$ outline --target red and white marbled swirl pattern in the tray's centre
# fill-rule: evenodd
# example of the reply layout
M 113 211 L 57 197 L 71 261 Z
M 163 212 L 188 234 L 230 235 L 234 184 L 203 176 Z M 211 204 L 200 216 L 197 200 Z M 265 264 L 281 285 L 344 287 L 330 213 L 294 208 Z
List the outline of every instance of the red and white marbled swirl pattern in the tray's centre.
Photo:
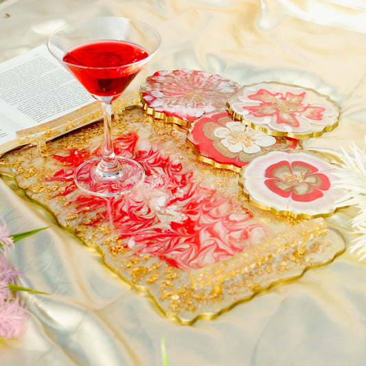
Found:
M 137 139 L 128 134 L 115 141 L 116 153 L 124 151 L 146 172 L 138 190 L 111 200 L 115 234 L 126 248 L 190 271 L 229 258 L 270 233 L 251 211 L 196 181 L 176 157 L 164 157 L 152 148 L 137 150 Z M 65 190 L 56 195 L 69 196 L 67 207 L 73 214 L 88 214 L 87 225 L 93 226 L 108 225 L 108 214 L 102 208 L 106 200 L 79 192 L 73 171 L 80 161 L 99 153 L 71 150 L 63 157 L 55 156 L 67 166 L 49 178 L 67 182 Z

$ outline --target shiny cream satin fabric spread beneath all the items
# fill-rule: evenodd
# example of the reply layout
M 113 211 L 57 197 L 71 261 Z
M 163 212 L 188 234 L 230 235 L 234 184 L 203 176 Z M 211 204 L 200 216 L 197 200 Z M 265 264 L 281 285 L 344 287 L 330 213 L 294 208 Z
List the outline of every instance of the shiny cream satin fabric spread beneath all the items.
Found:
M 305 148 L 337 155 L 366 134 L 366 6 L 363 0 L 5 0 L 0 60 L 45 43 L 62 23 L 95 15 L 130 16 L 162 36 L 157 56 L 130 85 L 162 69 L 201 69 L 240 84 L 278 81 L 329 95 L 339 128 Z M 5 16 L 9 14 L 10 16 Z M 0 86 L 1 87 L 1 86 Z M 41 209 L 0 181 L 0 216 L 12 233 L 53 225 L 12 251 L 30 321 L 1 347 L 0 364 L 171 366 L 358 366 L 366 363 L 366 262 L 347 250 L 328 266 L 275 286 L 214 321 L 181 326 L 161 317 L 102 264 L 98 253 L 61 231 Z M 354 236 L 354 209 L 330 222 Z

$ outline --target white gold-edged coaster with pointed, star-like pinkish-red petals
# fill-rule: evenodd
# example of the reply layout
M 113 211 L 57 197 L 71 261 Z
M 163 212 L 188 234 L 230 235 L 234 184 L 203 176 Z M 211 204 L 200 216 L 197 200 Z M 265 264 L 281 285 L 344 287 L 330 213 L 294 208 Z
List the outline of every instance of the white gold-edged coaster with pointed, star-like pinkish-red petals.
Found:
M 242 87 L 231 95 L 229 112 L 268 135 L 317 137 L 338 126 L 339 106 L 312 89 L 278 82 Z

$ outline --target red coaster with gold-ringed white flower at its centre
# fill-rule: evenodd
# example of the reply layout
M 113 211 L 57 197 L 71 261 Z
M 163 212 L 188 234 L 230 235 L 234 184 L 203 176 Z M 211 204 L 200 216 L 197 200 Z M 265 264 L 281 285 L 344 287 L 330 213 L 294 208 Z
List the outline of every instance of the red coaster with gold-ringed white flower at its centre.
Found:
M 254 130 L 234 121 L 227 111 L 208 113 L 193 122 L 187 143 L 201 161 L 234 172 L 269 151 L 301 148 L 297 139 Z

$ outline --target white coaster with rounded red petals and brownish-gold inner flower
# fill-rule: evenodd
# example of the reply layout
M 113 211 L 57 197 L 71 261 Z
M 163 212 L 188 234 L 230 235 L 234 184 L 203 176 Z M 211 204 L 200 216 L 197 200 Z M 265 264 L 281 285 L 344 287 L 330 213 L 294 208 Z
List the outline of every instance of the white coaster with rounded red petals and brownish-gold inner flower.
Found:
M 336 167 L 307 152 L 272 151 L 240 173 L 249 200 L 262 209 L 294 218 L 330 216 L 345 192 L 335 187 Z

